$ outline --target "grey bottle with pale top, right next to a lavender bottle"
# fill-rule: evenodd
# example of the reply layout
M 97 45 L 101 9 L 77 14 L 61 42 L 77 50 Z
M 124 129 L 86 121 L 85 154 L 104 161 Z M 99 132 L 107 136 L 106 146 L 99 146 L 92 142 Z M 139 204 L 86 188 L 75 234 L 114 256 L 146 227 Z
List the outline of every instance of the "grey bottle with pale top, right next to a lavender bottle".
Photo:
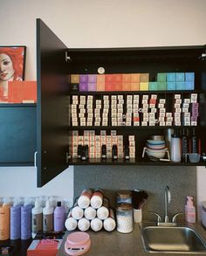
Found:
M 39 199 L 36 200 L 35 206 L 31 209 L 31 232 L 35 235 L 42 231 L 43 208 Z

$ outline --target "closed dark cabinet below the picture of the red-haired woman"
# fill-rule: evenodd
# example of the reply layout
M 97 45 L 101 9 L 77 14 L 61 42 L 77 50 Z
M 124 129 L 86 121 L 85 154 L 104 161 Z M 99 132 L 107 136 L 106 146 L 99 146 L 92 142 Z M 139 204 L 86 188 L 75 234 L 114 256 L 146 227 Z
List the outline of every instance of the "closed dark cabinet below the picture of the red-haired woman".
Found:
M 37 150 L 35 104 L 1 104 L 0 165 L 33 165 Z

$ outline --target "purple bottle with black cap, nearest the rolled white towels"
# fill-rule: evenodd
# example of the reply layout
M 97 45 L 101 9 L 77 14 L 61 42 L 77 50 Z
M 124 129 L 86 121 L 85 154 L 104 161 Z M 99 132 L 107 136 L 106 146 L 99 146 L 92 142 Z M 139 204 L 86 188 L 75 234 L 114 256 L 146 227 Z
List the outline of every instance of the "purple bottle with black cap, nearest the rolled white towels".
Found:
M 54 219 L 54 232 L 62 232 L 65 230 L 65 207 L 61 205 L 61 202 L 57 203 L 57 206 L 53 213 Z

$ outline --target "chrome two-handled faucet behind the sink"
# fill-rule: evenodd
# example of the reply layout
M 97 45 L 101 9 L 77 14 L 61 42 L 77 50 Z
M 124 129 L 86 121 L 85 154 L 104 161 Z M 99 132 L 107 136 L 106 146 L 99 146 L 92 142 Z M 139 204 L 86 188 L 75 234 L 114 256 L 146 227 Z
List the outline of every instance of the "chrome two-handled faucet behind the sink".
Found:
M 178 215 L 183 214 L 182 212 L 178 212 L 174 215 L 172 218 L 172 221 L 170 222 L 169 217 L 168 217 L 168 204 L 171 202 L 171 193 L 169 190 L 169 187 L 166 186 L 164 189 L 164 221 L 161 220 L 161 216 L 154 212 L 150 211 L 153 215 L 157 217 L 157 225 L 165 225 L 165 226 L 175 226 L 177 225 L 176 223 L 176 218 Z

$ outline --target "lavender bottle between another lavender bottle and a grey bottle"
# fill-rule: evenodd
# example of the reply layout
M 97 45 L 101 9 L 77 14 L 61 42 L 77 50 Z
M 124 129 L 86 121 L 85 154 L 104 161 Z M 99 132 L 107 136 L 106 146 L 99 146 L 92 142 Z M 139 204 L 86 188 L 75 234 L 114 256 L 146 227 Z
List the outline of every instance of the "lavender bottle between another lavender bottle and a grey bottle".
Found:
M 21 239 L 31 239 L 31 202 L 25 202 L 21 206 Z

